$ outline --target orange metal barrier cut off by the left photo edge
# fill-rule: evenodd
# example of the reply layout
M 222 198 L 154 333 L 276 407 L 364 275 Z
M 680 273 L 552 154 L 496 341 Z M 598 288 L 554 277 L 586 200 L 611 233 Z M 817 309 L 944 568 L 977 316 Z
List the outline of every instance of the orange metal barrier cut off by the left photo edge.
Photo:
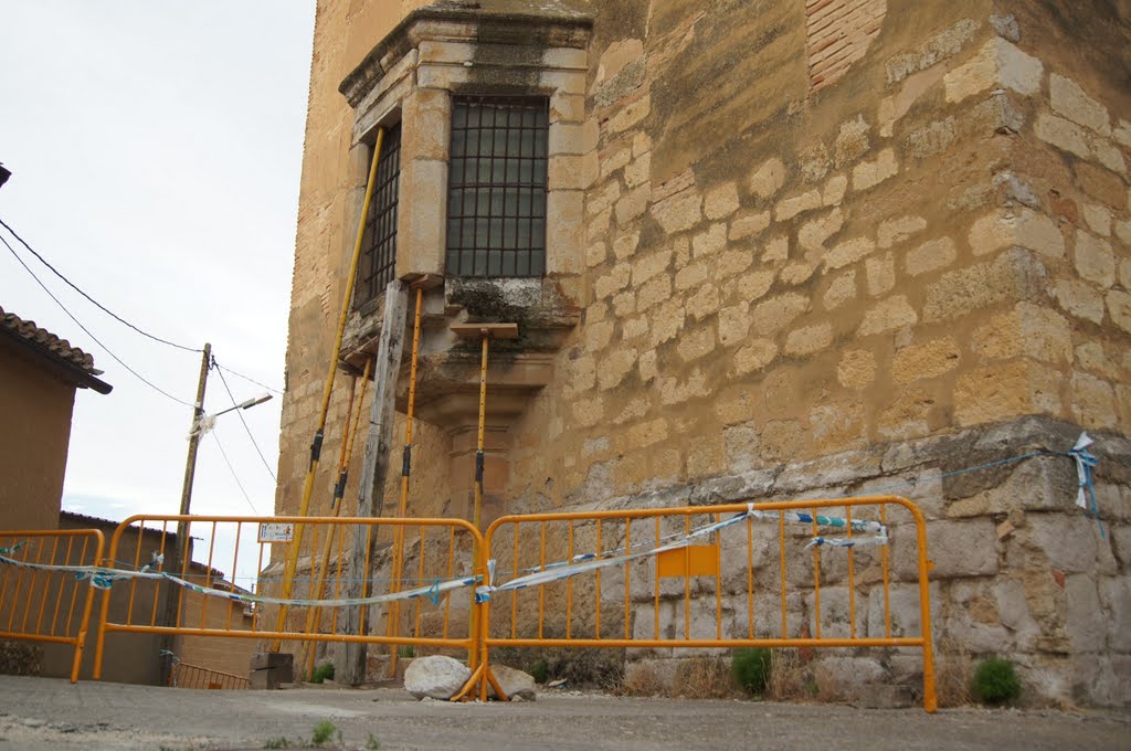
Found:
M 97 529 L 0 532 L 0 639 L 71 645 L 78 681 L 94 588 L 79 580 L 102 560 Z

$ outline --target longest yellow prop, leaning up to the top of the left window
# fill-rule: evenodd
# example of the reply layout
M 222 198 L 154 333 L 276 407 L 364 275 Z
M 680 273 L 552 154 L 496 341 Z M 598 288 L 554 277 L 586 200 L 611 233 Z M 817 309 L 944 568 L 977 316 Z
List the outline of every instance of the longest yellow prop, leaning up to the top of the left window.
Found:
M 349 301 L 353 299 L 354 280 L 357 278 L 357 261 L 361 258 L 361 245 L 365 238 L 365 222 L 369 219 L 369 204 L 373 199 L 373 183 L 377 182 L 377 165 L 381 159 L 381 146 L 385 144 L 385 128 L 377 129 L 377 144 L 373 146 L 373 163 L 369 167 L 369 180 L 365 182 L 365 200 L 361 207 L 361 221 L 357 223 L 357 239 L 354 242 L 354 253 L 349 261 L 349 273 L 346 276 L 346 290 L 342 295 L 342 313 L 338 316 L 338 330 L 334 337 L 334 353 L 330 355 L 330 369 L 326 376 L 326 387 L 322 389 L 322 407 L 318 415 L 318 430 L 310 447 L 310 467 L 307 469 L 307 482 L 302 486 L 302 503 L 299 507 L 300 517 L 310 512 L 310 497 L 314 490 L 314 475 L 318 473 L 318 460 L 322 451 L 322 435 L 326 430 L 326 415 L 330 409 L 330 394 L 334 391 L 334 377 L 338 370 L 338 357 L 342 355 L 342 337 L 345 334 L 346 318 L 349 314 Z M 286 573 L 283 575 L 283 599 L 290 599 L 294 589 L 294 573 L 299 568 L 299 554 L 302 550 L 301 524 L 295 525 L 294 539 L 286 550 Z M 277 631 L 284 630 L 286 623 L 286 605 L 279 605 Z M 271 651 L 278 651 L 282 641 L 271 642 Z

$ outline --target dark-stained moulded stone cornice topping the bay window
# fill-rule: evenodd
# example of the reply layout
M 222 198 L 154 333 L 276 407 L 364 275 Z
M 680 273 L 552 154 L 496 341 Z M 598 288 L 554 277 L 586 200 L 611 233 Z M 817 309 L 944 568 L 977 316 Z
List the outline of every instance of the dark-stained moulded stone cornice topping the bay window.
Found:
M 398 60 L 424 41 L 584 49 L 592 29 L 592 16 L 566 9 L 521 11 L 438 3 L 408 14 L 349 71 L 338 90 L 356 107 Z

